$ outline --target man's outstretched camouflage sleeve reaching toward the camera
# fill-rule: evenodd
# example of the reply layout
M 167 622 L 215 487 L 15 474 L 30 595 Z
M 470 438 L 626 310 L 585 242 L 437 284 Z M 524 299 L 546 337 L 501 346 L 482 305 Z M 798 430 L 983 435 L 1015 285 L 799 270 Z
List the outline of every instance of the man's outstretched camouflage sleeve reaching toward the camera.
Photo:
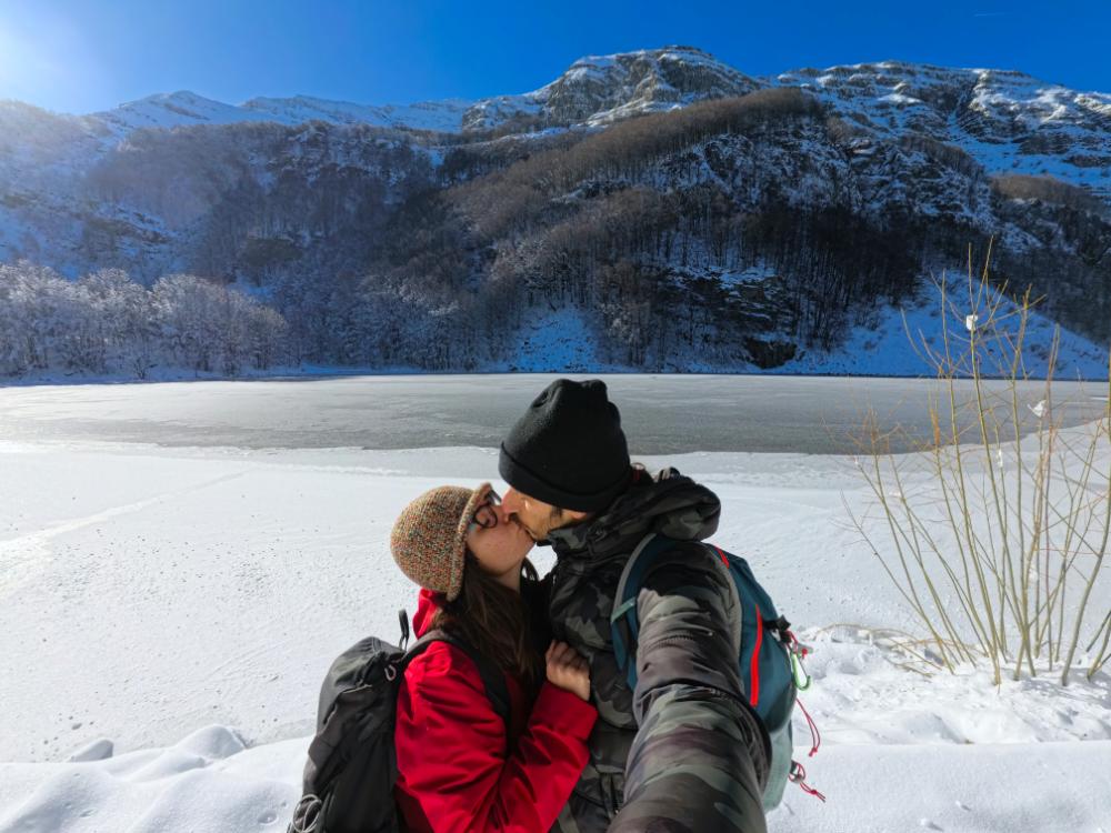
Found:
M 639 730 L 610 833 L 764 833 L 767 735 L 743 696 L 732 579 L 709 555 L 664 555 L 637 604 Z

